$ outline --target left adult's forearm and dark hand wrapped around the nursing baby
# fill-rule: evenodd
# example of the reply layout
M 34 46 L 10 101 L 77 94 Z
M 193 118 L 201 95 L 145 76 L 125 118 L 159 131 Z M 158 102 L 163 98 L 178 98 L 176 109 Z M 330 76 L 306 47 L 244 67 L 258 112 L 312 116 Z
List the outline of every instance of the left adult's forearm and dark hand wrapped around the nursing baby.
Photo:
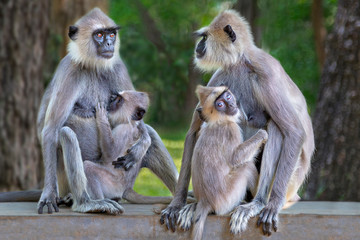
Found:
M 139 121 L 137 125 L 139 131 L 139 139 L 132 145 L 125 156 L 122 156 L 113 162 L 115 168 L 123 167 L 125 171 L 129 170 L 136 163 L 140 162 L 145 156 L 151 145 L 151 138 L 143 121 Z

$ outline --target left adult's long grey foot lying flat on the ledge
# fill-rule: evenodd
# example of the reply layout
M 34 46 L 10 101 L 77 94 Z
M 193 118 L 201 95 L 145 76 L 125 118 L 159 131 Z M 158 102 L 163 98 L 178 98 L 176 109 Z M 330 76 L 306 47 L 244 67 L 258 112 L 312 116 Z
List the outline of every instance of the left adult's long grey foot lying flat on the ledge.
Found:
M 81 204 L 76 204 L 75 202 L 72 209 L 75 212 L 107 213 L 112 215 L 124 212 L 124 208 L 119 203 L 110 199 L 87 200 Z

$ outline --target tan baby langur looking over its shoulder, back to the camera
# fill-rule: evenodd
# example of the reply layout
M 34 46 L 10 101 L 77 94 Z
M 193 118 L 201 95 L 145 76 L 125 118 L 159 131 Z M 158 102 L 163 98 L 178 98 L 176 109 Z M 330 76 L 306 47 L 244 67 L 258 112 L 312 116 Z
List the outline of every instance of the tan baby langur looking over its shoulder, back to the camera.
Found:
M 268 135 L 261 129 L 244 142 L 238 124 L 246 116 L 228 88 L 198 86 L 196 94 L 200 101 L 197 112 L 204 121 L 191 166 L 198 202 L 180 211 L 178 224 L 188 230 L 194 222 L 192 238 L 201 239 L 210 212 L 229 213 L 241 203 L 247 189 L 255 195 L 258 173 L 254 157 Z

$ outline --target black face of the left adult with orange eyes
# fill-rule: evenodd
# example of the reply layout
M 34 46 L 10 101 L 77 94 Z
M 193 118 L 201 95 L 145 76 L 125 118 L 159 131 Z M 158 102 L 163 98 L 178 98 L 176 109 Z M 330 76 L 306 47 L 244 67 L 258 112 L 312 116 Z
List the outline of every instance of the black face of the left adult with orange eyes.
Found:
M 116 42 L 116 28 L 98 29 L 93 33 L 97 54 L 103 58 L 112 58 Z

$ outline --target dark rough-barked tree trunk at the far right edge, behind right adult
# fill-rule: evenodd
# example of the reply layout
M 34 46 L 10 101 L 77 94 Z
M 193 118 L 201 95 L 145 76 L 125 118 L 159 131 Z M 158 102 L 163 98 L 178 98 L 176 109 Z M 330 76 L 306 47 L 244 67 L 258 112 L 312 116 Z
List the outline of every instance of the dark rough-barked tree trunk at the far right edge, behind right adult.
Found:
M 360 200 L 360 1 L 339 0 L 314 116 L 316 154 L 305 197 Z

